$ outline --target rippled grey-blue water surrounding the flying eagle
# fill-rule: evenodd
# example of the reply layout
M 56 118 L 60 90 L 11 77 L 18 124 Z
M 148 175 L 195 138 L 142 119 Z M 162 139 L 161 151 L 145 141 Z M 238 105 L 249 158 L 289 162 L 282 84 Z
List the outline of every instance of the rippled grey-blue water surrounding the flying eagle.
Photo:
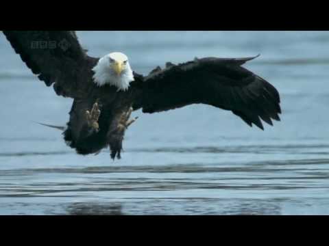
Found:
M 59 131 L 72 100 L 38 81 L 0 34 L 0 214 L 329 214 L 328 31 L 78 31 L 90 55 L 123 51 L 136 72 L 194 57 L 261 56 L 282 122 L 249 128 L 207 105 L 144 115 L 123 159 L 79 156 Z

